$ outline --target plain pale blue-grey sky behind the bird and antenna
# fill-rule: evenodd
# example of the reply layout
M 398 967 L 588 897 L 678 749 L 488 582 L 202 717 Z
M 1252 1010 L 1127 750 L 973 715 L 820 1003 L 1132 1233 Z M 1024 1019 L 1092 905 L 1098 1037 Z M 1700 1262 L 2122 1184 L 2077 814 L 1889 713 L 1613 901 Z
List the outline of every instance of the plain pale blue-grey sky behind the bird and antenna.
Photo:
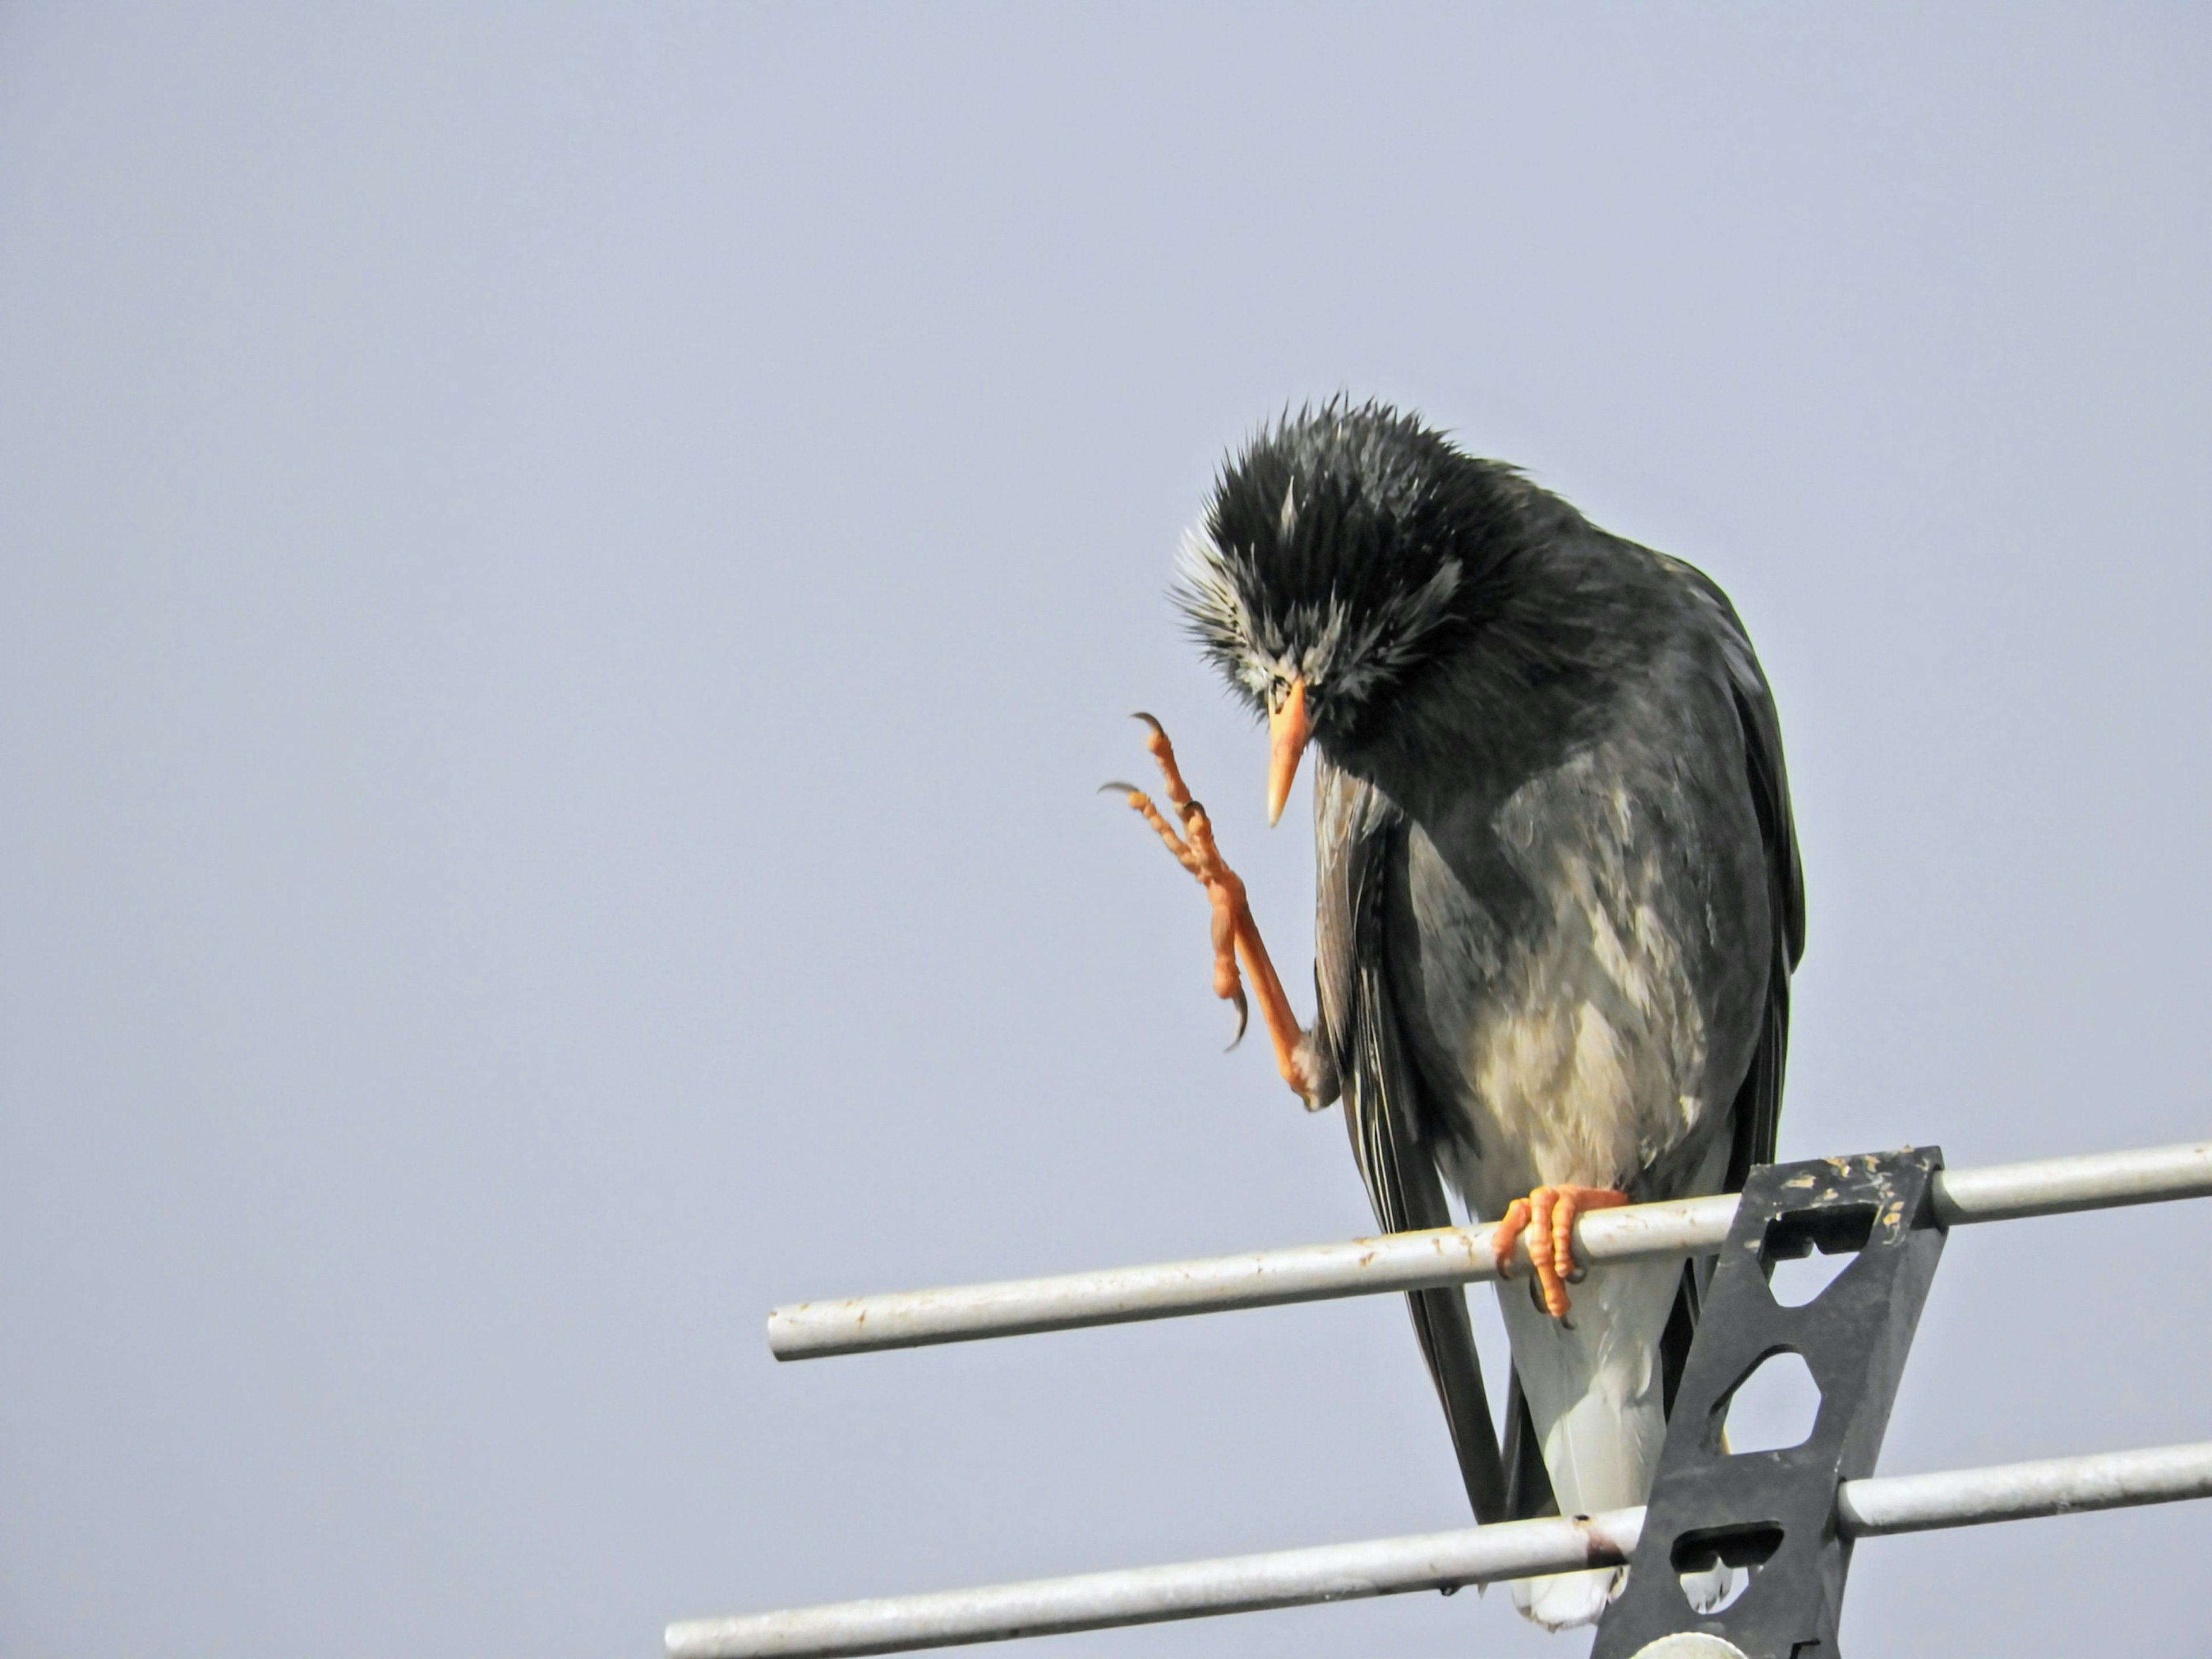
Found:
M 1734 595 L 1785 1155 L 2203 1135 L 2208 86 L 2194 4 L 0 9 L 0 1650 L 646 1659 L 1462 1524 L 1394 1298 L 761 1334 L 1367 1230 L 1093 794 L 1157 710 L 1303 991 L 1303 785 L 1161 595 L 1340 387 Z M 1882 1469 L 2212 1433 L 2208 1248 L 1962 1232 Z M 1878 1542 L 1845 1639 L 2205 1652 L 2208 1548 Z

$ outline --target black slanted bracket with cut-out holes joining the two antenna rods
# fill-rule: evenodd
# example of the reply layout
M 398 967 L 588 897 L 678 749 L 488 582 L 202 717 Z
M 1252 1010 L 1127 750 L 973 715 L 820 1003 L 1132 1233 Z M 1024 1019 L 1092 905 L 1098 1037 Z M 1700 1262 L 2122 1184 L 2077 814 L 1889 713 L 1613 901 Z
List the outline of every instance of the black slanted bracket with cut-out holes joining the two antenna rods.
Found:
M 1922 1146 L 1752 1170 L 1683 1363 L 1628 1586 L 1590 1659 L 1838 1659 L 1851 1540 L 1836 1531 L 1836 1486 L 1871 1475 L 1882 1449 L 1942 1256 L 1940 1168 L 1942 1152 Z M 1858 1256 L 1809 1303 L 1783 1307 L 1770 1272 L 1812 1250 Z M 1812 1433 L 1730 1453 L 1728 1405 L 1776 1354 L 1801 1356 L 1820 1389 Z M 1723 1562 L 1750 1571 L 1747 1588 L 1697 1613 L 1681 1575 Z

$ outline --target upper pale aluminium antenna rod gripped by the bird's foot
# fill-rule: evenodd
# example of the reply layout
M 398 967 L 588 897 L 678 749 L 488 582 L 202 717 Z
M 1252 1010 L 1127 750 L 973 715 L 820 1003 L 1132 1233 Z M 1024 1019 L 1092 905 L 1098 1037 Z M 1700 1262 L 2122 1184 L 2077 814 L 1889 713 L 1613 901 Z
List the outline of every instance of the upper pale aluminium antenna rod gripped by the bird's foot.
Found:
M 2194 1141 L 2143 1152 L 1944 1170 L 1936 1177 L 1936 1214 L 1944 1225 L 1960 1225 L 2208 1194 L 2212 1141 Z M 1593 1210 L 1575 1223 L 1575 1256 L 1588 1263 L 1690 1256 L 1717 1250 L 1734 1219 L 1734 1194 Z M 1528 1270 L 1526 1250 L 1515 1250 L 1515 1267 Z M 1376 1296 L 1389 1290 L 1473 1285 L 1495 1276 L 1486 1230 L 1391 1232 L 1150 1267 L 796 1303 L 768 1316 L 768 1347 L 779 1360 L 807 1360 L 880 1347 Z

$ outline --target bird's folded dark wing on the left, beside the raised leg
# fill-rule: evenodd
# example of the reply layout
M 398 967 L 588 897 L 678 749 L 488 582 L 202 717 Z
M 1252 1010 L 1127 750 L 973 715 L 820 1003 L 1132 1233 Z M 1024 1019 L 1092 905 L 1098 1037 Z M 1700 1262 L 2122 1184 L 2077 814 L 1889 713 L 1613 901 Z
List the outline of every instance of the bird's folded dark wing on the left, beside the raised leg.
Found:
M 1449 1228 L 1444 1183 L 1422 1128 L 1413 1073 L 1383 975 L 1383 865 L 1398 812 L 1369 785 L 1325 761 L 1314 768 L 1318 909 L 1314 982 L 1321 1046 L 1334 1060 L 1352 1155 L 1383 1232 Z M 1444 1405 L 1444 1425 L 1478 1522 L 1511 1517 L 1506 1473 L 1482 1387 L 1482 1360 L 1458 1285 L 1407 1296 L 1413 1334 Z

